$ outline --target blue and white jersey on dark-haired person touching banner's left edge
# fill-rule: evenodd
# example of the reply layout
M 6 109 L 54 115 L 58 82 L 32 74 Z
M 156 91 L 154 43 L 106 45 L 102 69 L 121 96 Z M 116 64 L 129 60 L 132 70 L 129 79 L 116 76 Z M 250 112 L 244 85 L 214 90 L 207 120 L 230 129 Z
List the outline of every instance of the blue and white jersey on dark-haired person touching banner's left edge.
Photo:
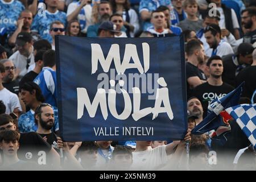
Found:
M 52 68 L 44 67 L 34 82 L 42 90 L 46 103 L 57 107 L 56 72 Z

